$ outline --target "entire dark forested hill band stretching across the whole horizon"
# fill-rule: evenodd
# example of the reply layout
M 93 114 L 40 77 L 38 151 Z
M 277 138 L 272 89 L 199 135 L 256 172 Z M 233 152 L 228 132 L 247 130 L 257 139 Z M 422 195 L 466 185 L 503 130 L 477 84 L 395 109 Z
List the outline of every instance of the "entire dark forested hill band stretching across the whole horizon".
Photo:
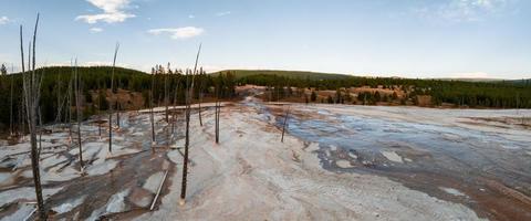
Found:
M 168 71 L 157 65 L 153 70 L 155 74 L 152 75 L 131 69 L 116 67 L 113 92 L 110 90 L 113 71 L 111 66 L 76 67 L 75 71 L 80 76 L 80 98 L 84 116 L 105 112 L 110 105 L 113 105 L 114 109 L 147 107 L 152 103 L 149 96 L 152 84 L 155 105 L 162 105 L 165 101 L 184 103 L 187 78 L 183 71 Z M 71 114 L 69 110 L 75 109 L 73 108 L 75 96 L 72 92 L 74 69 L 52 66 L 39 69 L 37 72 L 44 76 L 40 101 L 43 123 L 67 120 L 65 117 Z M 325 97 L 320 97 L 323 99 L 312 99 L 312 102 L 378 104 L 387 101 L 399 104 L 419 104 L 417 99 L 423 96 L 423 101 L 429 103 L 427 106 L 452 104 L 469 107 L 531 108 L 531 81 L 529 80 L 489 83 L 360 77 L 316 72 L 232 70 L 212 74 L 200 71 L 200 74 L 195 77 L 195 98 L 198 98 L 199 94 L 207 98 L 209 96 L 231 98 L 236 95 L 236 85 L 254 84 L 267 86 L 271 97 L 275 99 L 295 94 L 302 99 L 309 99 L 306 97 L 309 94 L 292 93 L 292 87 L 298 87 L 306 88 L 310 94 L 314 94 L 314 91 L 335 92 L 335 94 L 324 93 Z M 22 124 L 24 116 L 21 112 L 22 88 L 21 74 L 0 75 L 0 130 L 9 128 L 11 123 L 17 126 Z M 214 88 L 219 88 L 219 92 Z M 356 88 L 363 90 L 356 91 Z M 315 94 L 317 97 L 321 96 L 320 93 Z M 332 99 L 332 97 L 335 98 Z M 427 98 L 429 101 L 426 101 Z M 70 101 L 70 105 L 67 101 Z M 13 114 L 11 115 L 11 113 Z

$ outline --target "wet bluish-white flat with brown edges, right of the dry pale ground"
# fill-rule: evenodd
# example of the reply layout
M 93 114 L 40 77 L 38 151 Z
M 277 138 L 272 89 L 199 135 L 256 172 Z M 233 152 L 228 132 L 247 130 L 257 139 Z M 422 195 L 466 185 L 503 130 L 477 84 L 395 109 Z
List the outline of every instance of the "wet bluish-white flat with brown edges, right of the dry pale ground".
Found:
M 281 128 L 288 107 L 268 107 Z M 385 176 L 490 220 L 531 220 L 529 110 L 292 105 L 290 113 L 287 131 L 319 143 L 327 170 Z M 514 124 L 483 124 L 489 118 Z

